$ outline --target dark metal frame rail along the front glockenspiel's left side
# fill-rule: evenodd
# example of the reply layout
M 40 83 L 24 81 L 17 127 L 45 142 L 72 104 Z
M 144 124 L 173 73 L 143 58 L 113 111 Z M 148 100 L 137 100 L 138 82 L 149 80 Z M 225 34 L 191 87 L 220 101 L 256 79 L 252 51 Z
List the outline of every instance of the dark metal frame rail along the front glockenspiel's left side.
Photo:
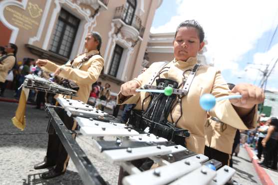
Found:
M 78 174 L 84 183 L 84 185 L 107 185 L 103 178 L 99 175 L 96 168 L 87 158 L 86 154 L 77 144 L 77 142 L 72 138 L 72 132 L 68 130 L 56 111 L 63 111 L 62 109 L 53 108 L 51 106 L 45 106 L 46 111 L 51 116 L 51 125 L 55 129 L 61 143 L 69 154 L 72 162 L 74 163 Z

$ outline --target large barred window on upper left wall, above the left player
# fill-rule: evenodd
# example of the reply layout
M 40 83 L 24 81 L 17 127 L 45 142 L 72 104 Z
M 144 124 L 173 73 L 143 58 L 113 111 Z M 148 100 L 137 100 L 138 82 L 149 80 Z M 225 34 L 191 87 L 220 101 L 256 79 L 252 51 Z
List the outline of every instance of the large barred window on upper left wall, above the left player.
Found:
M 61 9 L 50 44 L 50 51 L 69 58 L 80 20 Z

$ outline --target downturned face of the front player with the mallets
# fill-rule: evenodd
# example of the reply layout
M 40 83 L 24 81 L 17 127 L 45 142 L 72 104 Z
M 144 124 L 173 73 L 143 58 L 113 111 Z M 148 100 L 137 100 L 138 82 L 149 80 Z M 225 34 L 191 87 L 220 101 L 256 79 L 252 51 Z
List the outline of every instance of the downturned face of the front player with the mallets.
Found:
M 176 60 L 186 61 L 189 57 L 196 57 L 205 43 L 200 43 L 198 31 L 194 27 L 179 28 L 173 42 Z

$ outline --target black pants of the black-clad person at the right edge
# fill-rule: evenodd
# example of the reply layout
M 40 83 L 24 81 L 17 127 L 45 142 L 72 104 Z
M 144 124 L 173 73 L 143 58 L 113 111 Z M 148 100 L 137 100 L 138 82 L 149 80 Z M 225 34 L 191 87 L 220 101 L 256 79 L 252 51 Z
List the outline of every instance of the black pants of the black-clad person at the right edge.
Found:
M 266 145 L 266 156 L 264 159 L 265 166 L 271 166 L 272 169 L 277 169 L 278 162 L 278 142 L 275 139 L 270 138 Z

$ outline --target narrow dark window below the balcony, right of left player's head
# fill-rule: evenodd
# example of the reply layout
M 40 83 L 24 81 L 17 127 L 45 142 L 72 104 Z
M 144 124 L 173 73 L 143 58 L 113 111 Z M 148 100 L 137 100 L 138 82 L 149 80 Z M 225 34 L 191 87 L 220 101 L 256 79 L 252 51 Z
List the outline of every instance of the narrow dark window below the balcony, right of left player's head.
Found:
M 122 54 L 123 54 L 123 50 L 124 48 L 122 48 L 119 45 L 115 45 L 115 49 L 114 49 L 114 53 L 113 53 L 113 58 L 112 58 L 112 62 L 111 62 L 111 66 L 109 69 L 109 75 L 111 76 L 117 76 L 118 73 L 118 69 L 119 69 L 119 65 L 121 62 L 121 58 L 122 58 Z

